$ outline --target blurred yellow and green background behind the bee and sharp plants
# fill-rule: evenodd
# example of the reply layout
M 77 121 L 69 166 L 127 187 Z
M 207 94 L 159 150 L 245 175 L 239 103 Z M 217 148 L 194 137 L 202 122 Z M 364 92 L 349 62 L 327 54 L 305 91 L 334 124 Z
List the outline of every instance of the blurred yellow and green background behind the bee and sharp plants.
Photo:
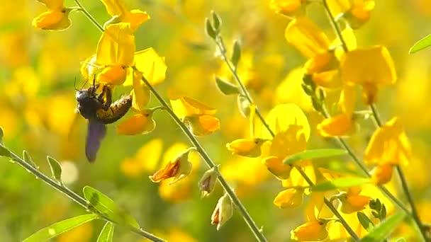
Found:
M 302 67 L 306 59 L 284 38 L 289 19 L 274 13 L 269 1 L 261 0 L 126 3 L 151 16 L 135 34 L 137 50 L 153 47 L 166 58 L 167 79 L 157 90 L 167 98 L 168 90 L 174 89 L 218 110 L 220 130 L 199 140 L 211 158 L 222 164 L 223 175 L 258 226 L 264 226 L 269 241 L 286 241 L 291 229 L 303 223 L 303 209 L 274 206 L 272 200 L 281 190 L 279 181 L 259 159 L 235 156 L 225 148 L 226 143 L 249 136 L 248 121 L 237 110 L 236 98 L 223 96 L 215 86 L 214 74 L 226 79 L 231 75 L 215 56 L 215 45 L 206 36 L 203 23 L 214 10 L 223 18 L 222 35 L 228 50 L 233 40 L 240 40 L 240 76 L 263 113 L 279 103 L 297 103 L 307 113 L 312 127 L 308 149 L 329 147 L 332 142 L 315 133 L 320 117 L 313 113 L 302 93 L 301 79 L 292 78 L 293 70 Z M 100 23 L 110 18 L 100 1 L 82 4 Z M 74 6 L 74 1 L 66 1 L 65 6 Z M 210 224 L 223 190 L 217 186 L 208 198 L 200 198 L 197 182 L 206 165 L 197 156 L 194 171 L 180 183 L 169 186 L 148 179 L 190 146 L 166 113 L 155 113 L 157 127 L 146 135 L 120 136 L 115 133 L 115 124 L 109 125 L 96 162 L 86 161 L 86 120 L 80 119 L 72 128 L 72 137 L 67 136 L 77 105 L 74 80 L 77 86 L 84 82 L 80 63 L 96 51 L 100 32 L 79 12 L 70 14 L 72 26 L 67 30 L 35 29 L 31 21 L 44 8 L 37 1 L 0 4 L 0 126 L 6 146 L 17 154 L 26 149 L 44 173 L 49 173 L 45 156 L 55 157 L 62 163 L 69 188 L 78 193 L 84 185 L 101 190 L 133 214 L 143 229 L 169 241 L 252 241 L 253 235 L 237 212 L 220 231 Z M 308 12 L 333 39 L 323 8 L 311 6 Z M 376 1 L 371 20 L 355 35 L 358 47 L 388 47 L 396 64 L 398 81 L 382 89 L 377 107 L 384 120 L 398 116 L 405 125 L 415 156 L 405 173 L 423 219 L 431 222 L 431 217 L 425 216 L 431 201 L 431 50 L 408 54 L 415 41 L 430 33 L 430 25 L 428 0 Z M 118 98 L 129 91 L 117 88 L 114 96 Z M 150 107 L 156 105 L 157 100 L 152 98 Z M 349 141 L 362 156 L 373 129 L 363 125 L 358 131 L 359 137 Z M 0 241 L 21 241 L 44 226 L 86 213 L 23 168 L 5 158 L 1 161 Z M 96 241 L 102 226 L 103 221 L 93 221 L 56 240 Z M 114 241 L 140 240 L 116 228 Z

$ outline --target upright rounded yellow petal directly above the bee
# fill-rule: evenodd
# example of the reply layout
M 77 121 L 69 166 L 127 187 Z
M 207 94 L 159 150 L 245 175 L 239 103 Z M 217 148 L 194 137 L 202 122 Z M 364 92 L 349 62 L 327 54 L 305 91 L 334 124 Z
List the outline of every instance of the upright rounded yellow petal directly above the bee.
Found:
M 97 44 L 97 64 L 131 67 L 134 56 L 135 35 L 130 23 L 108 25 Z

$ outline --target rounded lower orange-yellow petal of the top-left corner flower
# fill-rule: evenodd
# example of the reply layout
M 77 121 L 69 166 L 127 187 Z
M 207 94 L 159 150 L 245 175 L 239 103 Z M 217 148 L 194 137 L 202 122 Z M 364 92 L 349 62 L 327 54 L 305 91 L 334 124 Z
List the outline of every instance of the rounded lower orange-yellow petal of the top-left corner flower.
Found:
M 69 9 L 64 11 L 47 11 L 33 19 L 32 25 L 42 30 L 65 30 L 71 25 Z

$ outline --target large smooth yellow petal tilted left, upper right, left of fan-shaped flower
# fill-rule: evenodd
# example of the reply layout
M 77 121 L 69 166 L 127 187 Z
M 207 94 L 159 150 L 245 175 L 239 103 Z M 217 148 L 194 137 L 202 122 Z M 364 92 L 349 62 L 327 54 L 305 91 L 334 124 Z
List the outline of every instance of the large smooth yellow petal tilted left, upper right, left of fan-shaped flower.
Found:
M 330 47 L 328 37 L 310 18 L 296 18 L 286 28 L 284 33 L 287 42 L 308 59 L 316 54 L 327 52 Z

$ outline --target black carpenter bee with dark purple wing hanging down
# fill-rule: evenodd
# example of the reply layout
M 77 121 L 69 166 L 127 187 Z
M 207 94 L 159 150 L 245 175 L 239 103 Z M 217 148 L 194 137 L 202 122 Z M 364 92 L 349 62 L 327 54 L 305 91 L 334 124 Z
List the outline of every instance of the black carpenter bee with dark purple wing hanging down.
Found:
M 97 94 L 99 84 L 90 86 L 84 90 L 77 90 L 77 111 L 88 122 L 86 134 L 85 154 L 86 158 L 93 162 L 96 160 L 97 151 L 106 134 L 106 125 L 116 122 L 123 117 L 132 106 L 132 96 L 123 96 L 112 103 L 112 91 L 109 86 L 103 86 L 100 94 Z

